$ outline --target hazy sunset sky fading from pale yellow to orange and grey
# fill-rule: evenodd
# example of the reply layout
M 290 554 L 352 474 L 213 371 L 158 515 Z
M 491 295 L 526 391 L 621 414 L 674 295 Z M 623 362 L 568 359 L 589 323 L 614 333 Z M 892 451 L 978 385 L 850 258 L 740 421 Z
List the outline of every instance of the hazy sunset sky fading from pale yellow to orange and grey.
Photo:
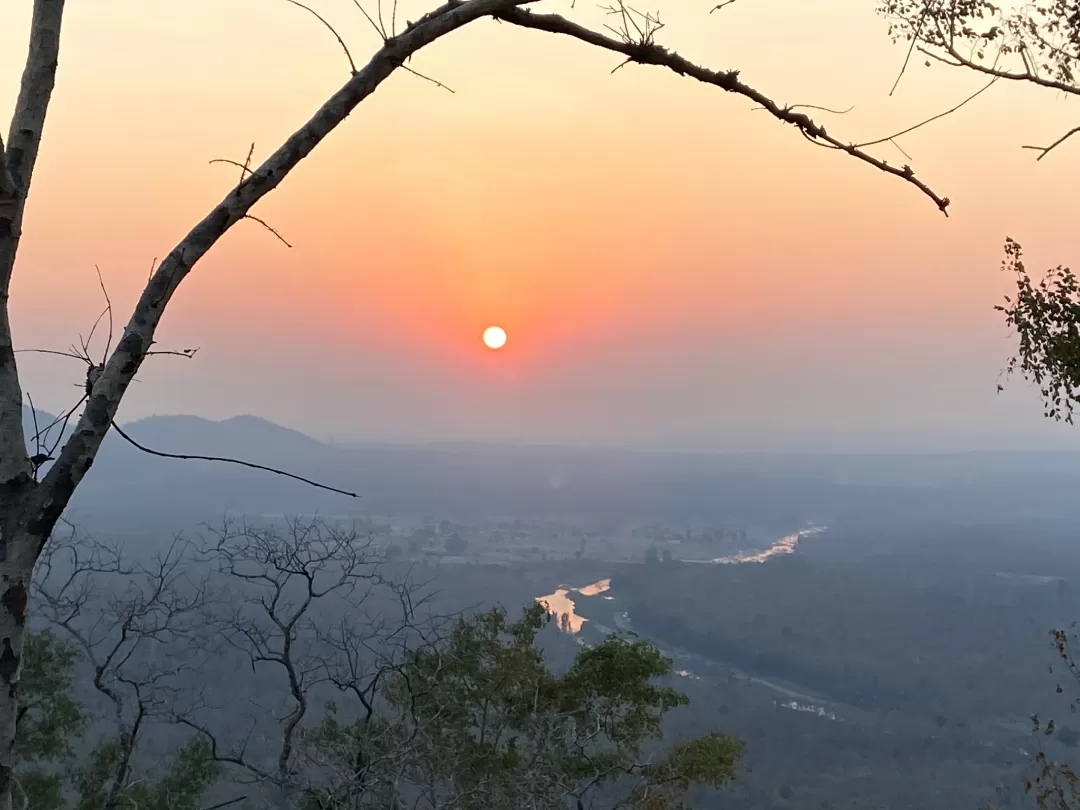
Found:
M 875 0 L 661 2 L 662 43 L 863 140 L 955 105 L 978 77 L 916 60 Z M 350 2 L 311 0 L 356 59 Z M 374 2 L 374 0 L 369 0 Z M 0 104 L 29 2 L 0 5 Z M 403 0 L 416 18 L 428 0 Z M 538 9 L 600 25 L 592 3 Z M 588 6 L 588 8 L 586 8 Z M 1080 144 L 1049 92 L 996 85 L 901 139 L 954 201 L 808 144 L 752 104 L 551 35 L 481 21 L 392 77 L 256 208 L 294 244 L 234 228 L 159 334 L 121 418 L 253 413 L 321 437 L 715 449 L 1080 446 L 1017 381 L 993 306 L 1007 234 L 1029 266 L 1078 260 Z M 69 3 L 59 80 L 12 294 L 16 346 L 64 348 L 99 309 L 126 321 L 150 262 L 347 78 L 284 0 Z M 5 112 L 4 116 L 8 113 Z M 879 153 L 907 162 L 891 147 Z M 1069 235 L 1072 239 L 1069 239 Z M 497 323 L 501 352 L 480 335 Z M 77 363 L 21 355 L 39 407 Z

